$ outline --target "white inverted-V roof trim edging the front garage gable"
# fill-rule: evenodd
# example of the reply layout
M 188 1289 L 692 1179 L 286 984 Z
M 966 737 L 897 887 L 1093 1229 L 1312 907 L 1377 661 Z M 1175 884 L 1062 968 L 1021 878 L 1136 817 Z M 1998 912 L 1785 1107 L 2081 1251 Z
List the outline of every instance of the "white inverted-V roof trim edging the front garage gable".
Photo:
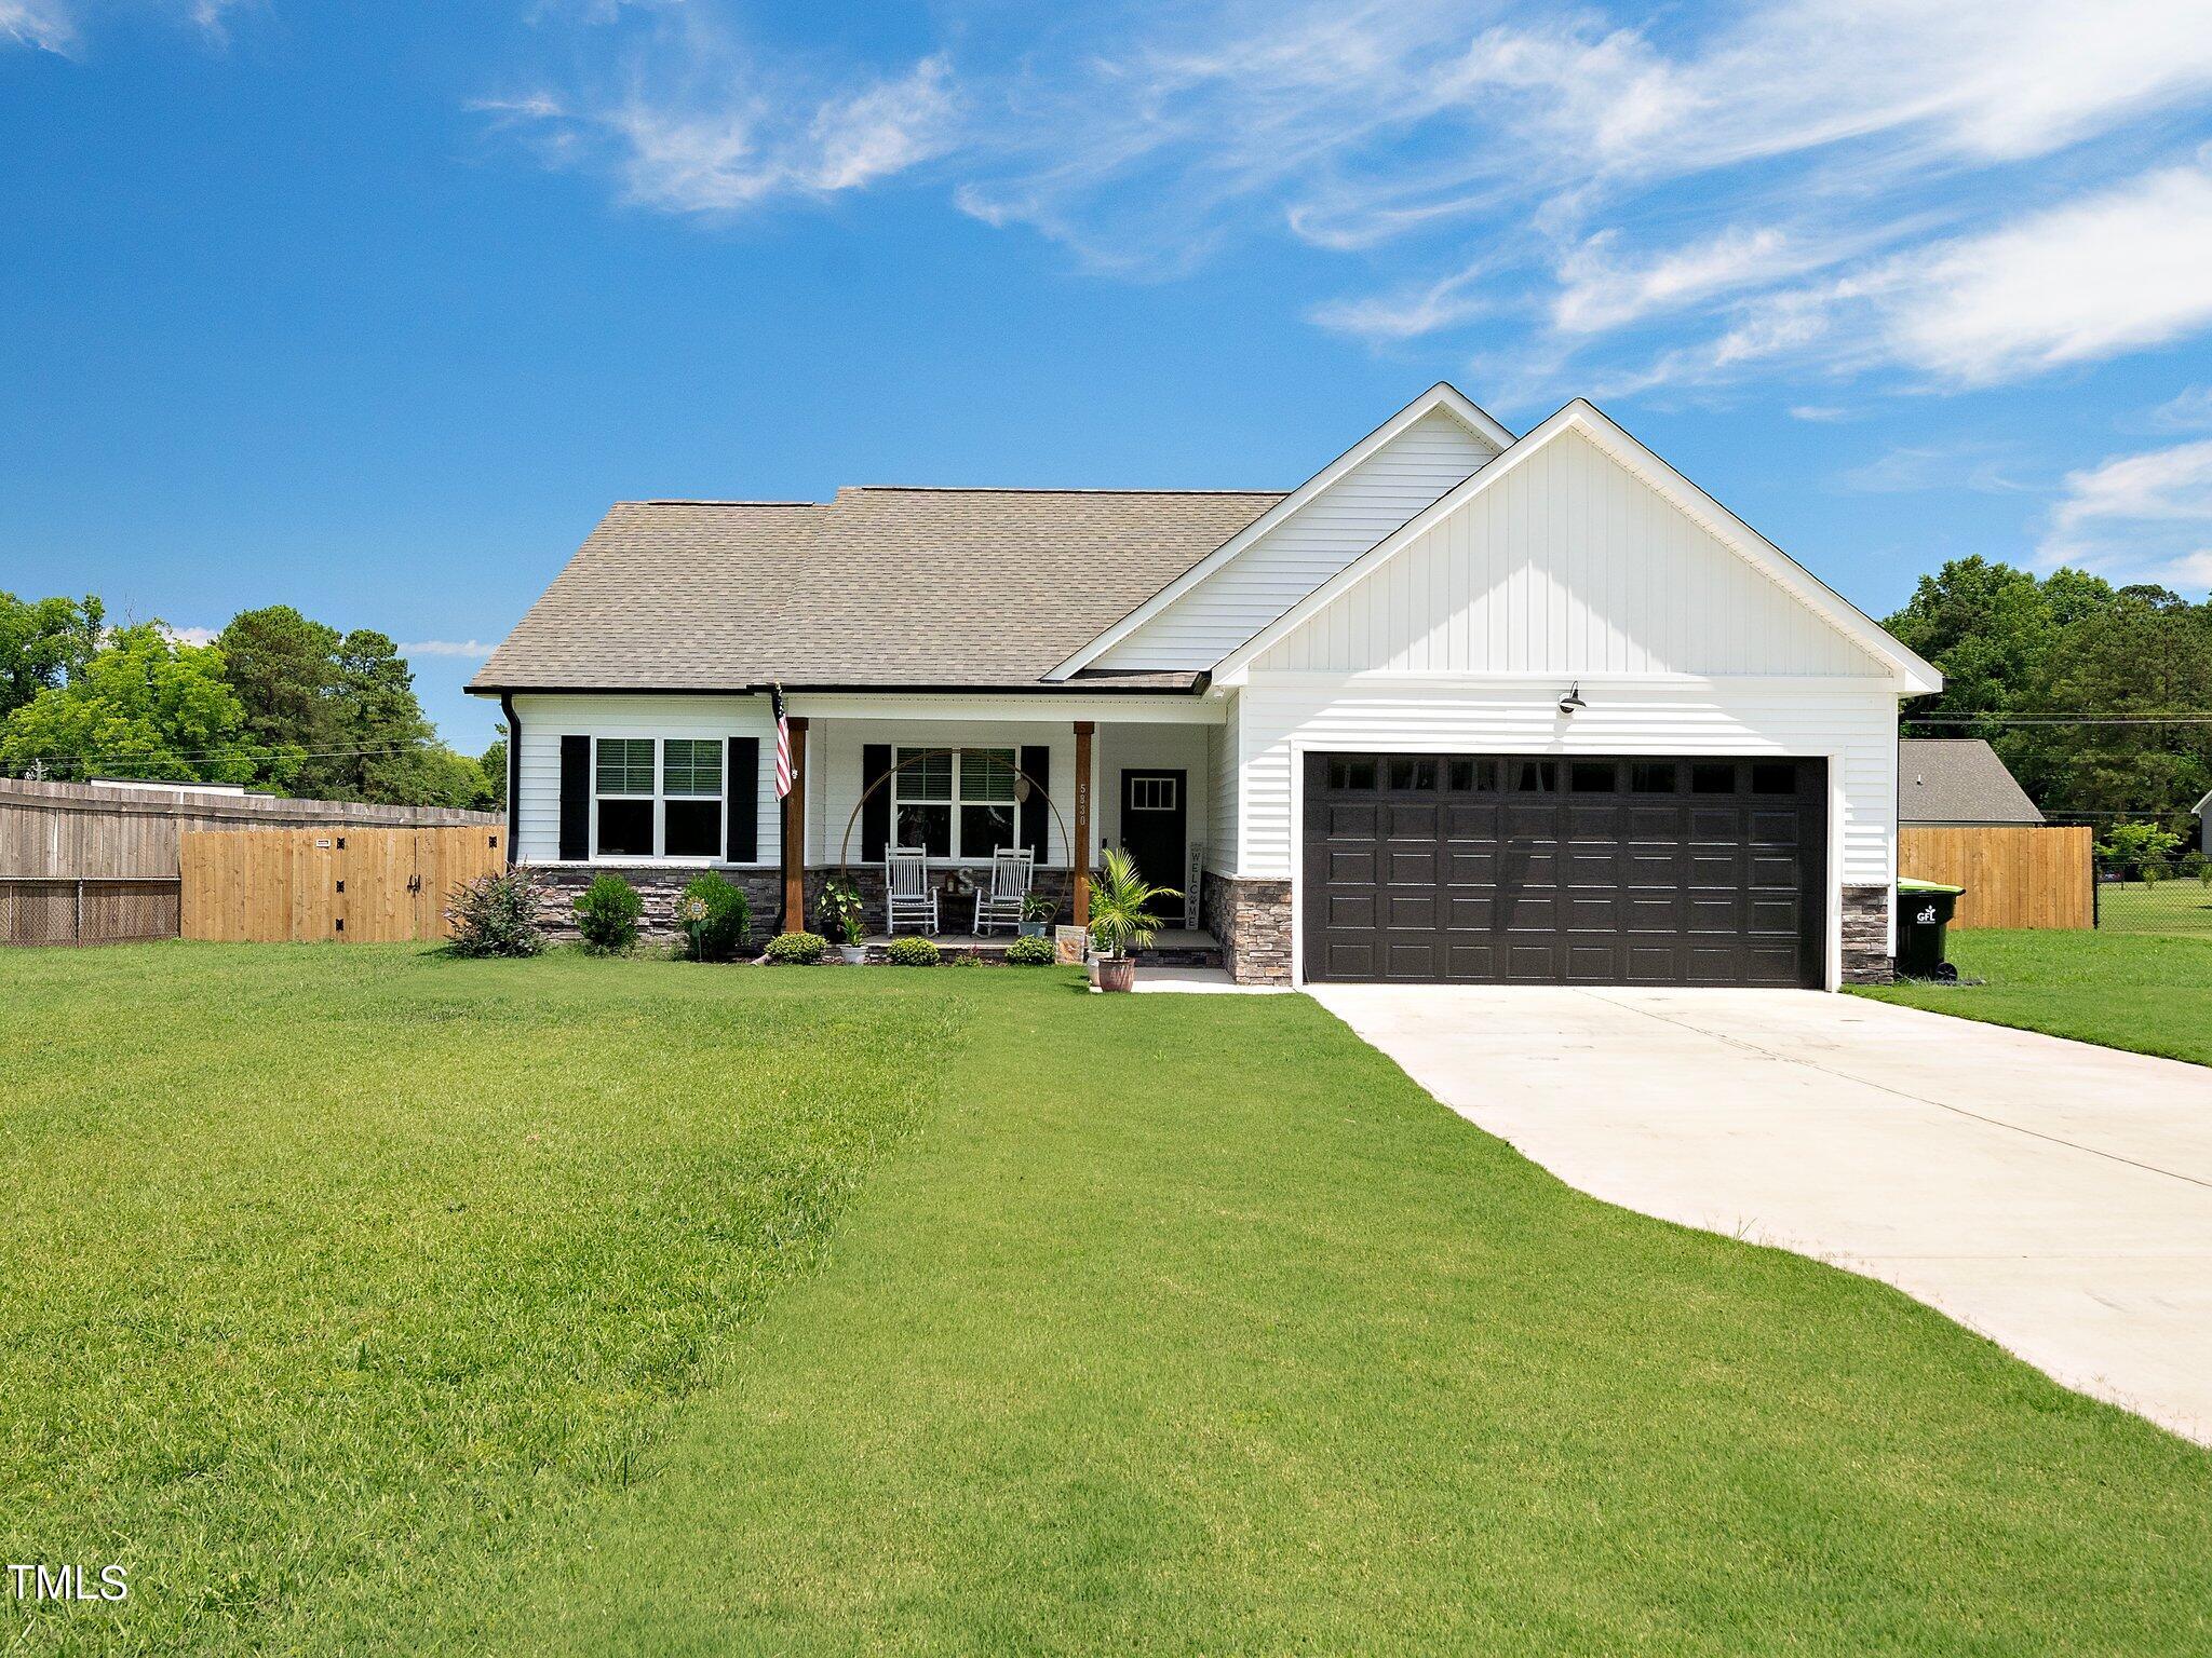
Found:
M 1506 449 L 1498 460 L 1493 460 L 1482 471 L 1467 478 L 1458 489 L 1451 489 L 1429 508 L 1413 515 L 1400 524 L 1391 535 L 1378 542 L 1371 550 L 1363 553 L 1358 559 L 1347 564 L 1334 577 L 1307 592 L 1298 604 L 1290 606 L 1281 617 L 1252 634 L 1243 646 L 1232 650 L 1217 668 L 1214 681 L 1223 685 L 1241 685 L 1252 668 L 1252 661 L 1279 643 L 1294 628 L 1325 610 L 1345 590 L 1365 581 L 1383 564 L 1394 559 L 1407 546 L 1411 546 L 1420 535 L 1440 524 L 1444 517 L 1455 513 L 1469 500 L 1473 500 L 1484 489 L 1493 489 L 1502 478 L 1513 475 L 1520 466 L 1528 462 L 1531 455 L 1542 451 L 1546 444 L 1559 440 L 1566 433 L 1582 433 L 1599 449 L 1604 449 L 1613 460 L 1626 466 L 1632 475 L 1650 484 L 1659 495 L 1670 500 L 1677 508 L 1688 513 L 1697 524 L 1701 524 L 1710 535 L 1714 535 L 1723 546 L 1736 553 L 1745 564 L 1750 564 L 1761 575 L 1770 577 L 1778 588 L 1798 599 L 1816 617 L 1834 626 L 1847 639 L 1858 643 L 1869 657 L 1885 663 L 1896 676 L 1896 685 L 1907 694 L 1931 694 L 1942 690 L 1942 674 L 1922 661 L 1918 654 L 1907 650 L 1900 641 L 1889 637 L 1874 617 L 1854 606 L 1840 592 L 1820 581 L 1812 570 L 1792 559 L 1767 537 L 1745 524 L 1741 517 L 1721 506 L 1712 495 L 1701 491 L 1688 478 L 1668 466 L 1659 455 L 1637 442 L 1628 431 L 1615 424 L 1597 405 L 1586 398 L 1575 398 L 1564 409 L 1553 413 L 1533 431 L 1524 433 L 1511 449 Z

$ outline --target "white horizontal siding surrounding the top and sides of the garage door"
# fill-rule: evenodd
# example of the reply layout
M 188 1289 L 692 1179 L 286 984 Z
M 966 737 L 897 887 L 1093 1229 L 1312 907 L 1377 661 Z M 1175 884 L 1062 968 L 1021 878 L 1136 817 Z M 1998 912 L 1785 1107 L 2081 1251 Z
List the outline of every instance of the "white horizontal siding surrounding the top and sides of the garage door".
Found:
M 1564 685 L 1559 688 L 1564 690 Z M 1827 756 L 1840 791 L 1838 882 L 1889 884 L 1896 871 L 1898 701 L 1887 681 L 1586 683 L 1571 721 L 1544 683 L 1263 685 L 1239 696 L 1241 875 L 1290 878 L 1296 754 L 1730 754 Z

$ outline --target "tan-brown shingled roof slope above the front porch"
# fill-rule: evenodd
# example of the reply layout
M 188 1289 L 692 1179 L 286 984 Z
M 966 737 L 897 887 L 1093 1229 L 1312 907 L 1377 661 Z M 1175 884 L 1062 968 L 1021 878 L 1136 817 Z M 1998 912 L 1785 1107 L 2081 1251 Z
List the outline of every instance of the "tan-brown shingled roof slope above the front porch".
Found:
M 832 502 L 622 502 L 471 690 L 1040 685 L 1279 500 L 869 486 Z

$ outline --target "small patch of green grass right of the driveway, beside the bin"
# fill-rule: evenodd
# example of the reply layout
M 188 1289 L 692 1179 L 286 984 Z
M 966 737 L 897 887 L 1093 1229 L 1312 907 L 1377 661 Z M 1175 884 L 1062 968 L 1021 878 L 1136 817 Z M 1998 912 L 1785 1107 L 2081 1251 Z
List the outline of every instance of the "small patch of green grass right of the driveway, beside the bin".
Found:
M 1858 995 L 2212 1066 L 2212 937 L 1964 931 L 1949 935 L 1949 955 L 1986 984 Z

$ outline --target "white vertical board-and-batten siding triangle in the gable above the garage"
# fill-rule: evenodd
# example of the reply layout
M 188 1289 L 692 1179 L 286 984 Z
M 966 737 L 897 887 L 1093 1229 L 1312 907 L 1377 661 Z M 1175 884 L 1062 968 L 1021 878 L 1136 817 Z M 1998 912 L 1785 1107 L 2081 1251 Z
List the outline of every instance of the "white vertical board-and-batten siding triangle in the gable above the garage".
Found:
M 1254 672 L 1887 668 L 1595 442 L 1566 433 L 1265 650 Z

